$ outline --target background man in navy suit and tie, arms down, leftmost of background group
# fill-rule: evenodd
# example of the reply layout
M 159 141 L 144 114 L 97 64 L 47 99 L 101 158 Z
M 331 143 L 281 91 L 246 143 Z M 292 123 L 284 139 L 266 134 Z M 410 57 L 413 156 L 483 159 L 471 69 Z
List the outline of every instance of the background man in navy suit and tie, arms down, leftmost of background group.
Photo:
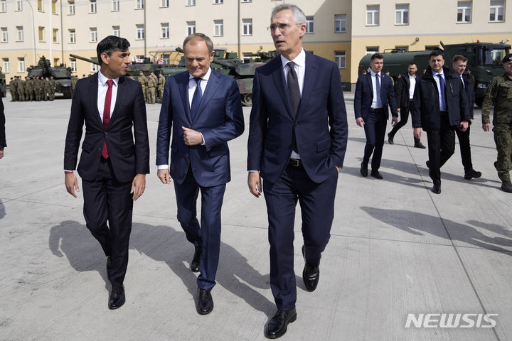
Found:
M 388 106 L 393 116 L 391 125 L 395 126 L 398 121 L 393 82 L 391 77 L 381 72 L 383 65 L 383 55 L 373 54 L 370 60 L 370 72 L 358 77 L 354 94 L 356 123 L 364 127 L 366 135 L 361 175 L 368 176 L 368 162 L 373 153 L 371 175 L 377 179 L 383 178 L 378 168 L 382 158 L 385 127 L 389 118 Z

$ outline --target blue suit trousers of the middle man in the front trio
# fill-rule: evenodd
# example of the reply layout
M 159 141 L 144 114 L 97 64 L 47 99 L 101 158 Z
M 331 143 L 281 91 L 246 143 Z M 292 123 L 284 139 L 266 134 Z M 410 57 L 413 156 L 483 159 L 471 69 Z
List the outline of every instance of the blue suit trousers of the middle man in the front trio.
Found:
M 194 178 L 192 169 L 188 168 L 183 183 L 174 182 L 176 204 L 178 205 L 178 222 L 180 222 L 186 239 L 196 249 L 201 250 L 197 284 L 199 288 L 210 291 L 215 286 L 220 253 L 220 210 L 224 200 L 225 183 L 203 187 Z M 201 190 L 201 225 L 197 219 L 197 198 Z

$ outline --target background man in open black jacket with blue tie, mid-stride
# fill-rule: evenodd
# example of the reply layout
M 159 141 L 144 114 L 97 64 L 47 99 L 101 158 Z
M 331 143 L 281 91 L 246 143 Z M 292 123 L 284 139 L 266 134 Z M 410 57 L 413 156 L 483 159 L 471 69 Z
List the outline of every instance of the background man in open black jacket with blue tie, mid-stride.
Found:
M 469 121 L 466 93 L 459 75 L 444 67 L 444 55 L 439 50 L 430 53 L 429 67 L 417 82 L 412 126 L 416 139 L 421 129 L 427 131 L 432 192 L 441 193 L 441 167 L 455 150 L 454 129 L 466 131 Z

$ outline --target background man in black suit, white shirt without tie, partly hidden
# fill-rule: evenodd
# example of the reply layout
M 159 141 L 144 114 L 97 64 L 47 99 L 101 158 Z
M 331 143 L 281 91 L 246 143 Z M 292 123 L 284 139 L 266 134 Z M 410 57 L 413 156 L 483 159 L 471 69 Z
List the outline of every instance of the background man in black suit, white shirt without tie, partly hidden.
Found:
M 410 63 L 407 65 L 407 73 L 399 77 L 395 85 L 395 98 L 397 102 L 397 111 L 400 114 L 400 121 L 396 124 L 393 129 L 388 133 L 388 142 L 393 144 L 393 139 L 398 129 L 402 128 L 407 124 L 409 118 L 409 111 L 412 106 L 412 97 L 414 97 L 414 90 L 416 87 L 416 63 Z M 414 138 L 415 147 L 425 149 L 425 146 L 420 140 Z

